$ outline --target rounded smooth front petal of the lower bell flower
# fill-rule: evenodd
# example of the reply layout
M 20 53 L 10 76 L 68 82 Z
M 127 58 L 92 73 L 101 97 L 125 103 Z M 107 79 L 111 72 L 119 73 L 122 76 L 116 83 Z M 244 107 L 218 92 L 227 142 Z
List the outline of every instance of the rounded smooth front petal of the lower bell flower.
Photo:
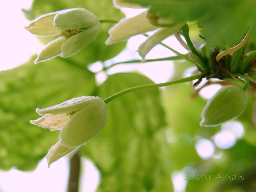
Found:
M 60 131 L 61 144 L 76 147 L 86 143 L 98 135 L 107 119 L 108 110 L 101 98 L 87 100 L 86 106 L 72 114 L 69 122 Z

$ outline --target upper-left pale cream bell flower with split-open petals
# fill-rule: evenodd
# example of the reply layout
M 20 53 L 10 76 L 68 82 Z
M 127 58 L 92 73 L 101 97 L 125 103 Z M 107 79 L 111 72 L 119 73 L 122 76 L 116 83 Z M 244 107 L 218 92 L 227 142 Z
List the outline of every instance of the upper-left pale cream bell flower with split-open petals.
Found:
M 40 16 L 25 28 L 36 35 L 60 36 L 44 47 L 35 60 L 37 64 L 56 56 L 70 57 L 82 50 L 98 36 L 100 23 L 90 11 L 72 8 Z

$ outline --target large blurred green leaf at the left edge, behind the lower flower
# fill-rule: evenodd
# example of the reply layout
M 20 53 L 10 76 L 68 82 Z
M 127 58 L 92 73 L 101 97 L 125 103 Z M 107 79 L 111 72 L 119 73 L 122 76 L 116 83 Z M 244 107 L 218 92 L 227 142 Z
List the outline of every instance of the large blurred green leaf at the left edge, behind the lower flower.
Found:
M 94 74 L 68 60 L 57 58 L 34 65 L 35 57 L 17 68 L 0 72 L 0 169 L 36 168 L 38 161 L 58 140 L 50 132 L 30 124 L 39 118 L 36 108 L 91 95 Z

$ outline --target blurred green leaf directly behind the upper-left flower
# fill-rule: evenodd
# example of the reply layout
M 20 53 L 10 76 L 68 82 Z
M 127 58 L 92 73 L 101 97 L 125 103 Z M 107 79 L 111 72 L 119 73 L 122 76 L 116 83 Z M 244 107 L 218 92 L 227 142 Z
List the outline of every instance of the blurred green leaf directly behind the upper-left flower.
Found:
M 124 15 L 122 12 L 114 8 L 112 0 L 34 0 L 31 10 L 26 12 L 26 17 L 32 20 L 42 14 L 55 12 L 68 8 L 86 8 L 98 19 L 120 20 Z M 113 24 L 103 23 L 100 25 L 100 34 L 88 47 L 84 48 L 70 59 L 76 61 L 80 65 L 91 64 L 96 61 L 105 61 L 116 56 L 125 47 L 126 43 L 118 43 L 113 45 L 105 45 L 104 42 L 108 38 L 108 29 Z M 45 38 L 43 38 L 45 41 Z M 50 41 L 53 39 L 51 38 Z

